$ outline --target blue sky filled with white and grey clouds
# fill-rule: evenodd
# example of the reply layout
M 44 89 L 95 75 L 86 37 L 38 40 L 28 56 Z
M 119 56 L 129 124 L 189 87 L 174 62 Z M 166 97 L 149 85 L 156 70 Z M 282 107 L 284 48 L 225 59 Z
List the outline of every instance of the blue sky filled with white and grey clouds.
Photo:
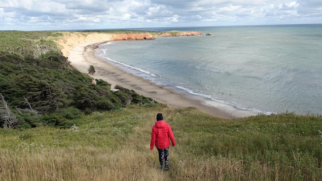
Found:
M 0 0 L 0 30 L 322 23 L 322 0 Z

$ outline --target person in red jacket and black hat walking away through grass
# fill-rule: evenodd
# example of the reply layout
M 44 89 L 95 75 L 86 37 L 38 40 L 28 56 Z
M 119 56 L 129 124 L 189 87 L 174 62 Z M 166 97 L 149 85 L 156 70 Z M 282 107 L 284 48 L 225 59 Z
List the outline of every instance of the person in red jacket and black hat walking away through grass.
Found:
M 168 166 L 169 147 L 170 147 L 169 138 L 172 142 L 172 146 L 174 147 L 175 140 L 174 140 L 172 129 L 168 123 L 163 121 L 162 114 L 158 113 L 157 122 L 152 127 L 150 149 L 153 150 L 154 144 L 155 144 L 155 147 L 158 149 L 161 170 L 163 169 L 163 163 L 165 163 L 164 169 L 165 170 L 169 169 L 169 166 Z

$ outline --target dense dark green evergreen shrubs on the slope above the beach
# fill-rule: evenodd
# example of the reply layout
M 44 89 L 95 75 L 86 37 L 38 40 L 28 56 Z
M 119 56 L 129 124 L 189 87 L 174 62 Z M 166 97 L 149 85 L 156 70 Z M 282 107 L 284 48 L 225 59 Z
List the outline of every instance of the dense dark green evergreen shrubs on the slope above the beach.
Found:
M 17 38 L 14 45 L 26 46 L 25 39 L 17 37 L 23 33 L 19 31 L 16 32 L 17 35 L 15 32 L 11 32 L 13 37 Z M 37 33 L 26 32 L 25 36 L 32 40 L 46 38 L 50 34 L 43 32 L 37 36 Z M 28 40 L 30 45 L 37 44 L 31 40 Z M 41 39 L 38 42 L 46 40 Z M 70 115 L 80 114 L 80 111 L 89 114 L 97 110 L 114 110 L 131 103 L 149 103 L 146 97 L 133 90 L 118 86 L 119 91 L 113 92 L 110 90 L 111 85 L 103 80 L 96 80 L 97 84 L 92 84 L 90 76 L 71 67 L 58 49 L 48 51 L 50 47 L 43 47 L 46 51 L 40 52 L 46 53 L 41 53 L 37 58 L 29 56 L 28 53 L 0 49 L 0 93 L 12 110 L 17 110 L 13 112 L 16 112 L 23 127 L 66 127 L 65 120 L 68 120 Z M 29 48 L 34 50 L 33 46 Z M 34 114 L 35 112 L 30 114 L 19 111 L 26 109 L 32 109 L 43 116 Z M 0 124 L 3 122 L 0 121 Z

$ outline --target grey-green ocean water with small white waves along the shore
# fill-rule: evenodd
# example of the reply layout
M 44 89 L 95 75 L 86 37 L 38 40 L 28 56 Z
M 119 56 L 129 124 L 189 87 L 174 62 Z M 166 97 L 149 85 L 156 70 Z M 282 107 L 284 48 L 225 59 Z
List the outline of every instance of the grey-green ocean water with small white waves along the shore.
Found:
M 322 113 L 322 24 L 133 30 L 204 35 L 108 42 L 95 56 L 127 73 L 239 110 Z

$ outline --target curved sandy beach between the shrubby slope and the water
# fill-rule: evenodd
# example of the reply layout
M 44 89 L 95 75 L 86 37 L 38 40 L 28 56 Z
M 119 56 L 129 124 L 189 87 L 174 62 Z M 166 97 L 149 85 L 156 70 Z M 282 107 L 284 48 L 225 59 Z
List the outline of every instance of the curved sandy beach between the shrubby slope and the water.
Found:
M 238 110 L 236 107 L 229 106 L 211 99 L 188 95 L 170 87 L 156 85 L 149 80 L 128 74 L 122 69 L 109 64 L 102 58 L 95 57 L 94 52 L 99 44 L 107 41 L 88 42 L 77 45 L 68 51 L 68 60 L 75 68 L 82 73 L 88 73 L 87 69 L 93 65 L 96 73 L 92 75 L 94 79 L 102 79 L 111 84 L 113 90 L 115 85 L 127 89 L 133 89 L 138 94 L 155 99 L 156 101 L 167 104 L 169 107 L 196 107 L 200 111 L 217 118 L 232 119 L 246 116 L 257 115 L 251 111 Z

